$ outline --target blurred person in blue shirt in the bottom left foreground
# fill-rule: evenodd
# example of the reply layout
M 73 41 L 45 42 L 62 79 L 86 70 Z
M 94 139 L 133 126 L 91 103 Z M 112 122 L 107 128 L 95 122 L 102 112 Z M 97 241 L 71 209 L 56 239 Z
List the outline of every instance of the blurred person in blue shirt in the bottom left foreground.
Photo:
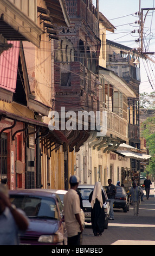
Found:
M 18 235 L 28 225 L 24 212 L 11 204 L 7 186 L 0 184 L 0 245 L 19 245 Z

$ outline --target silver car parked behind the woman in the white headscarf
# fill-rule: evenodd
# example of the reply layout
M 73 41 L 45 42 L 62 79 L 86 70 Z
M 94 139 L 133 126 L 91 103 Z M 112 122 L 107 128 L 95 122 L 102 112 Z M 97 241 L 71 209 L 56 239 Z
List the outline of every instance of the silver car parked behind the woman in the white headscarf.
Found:
M 85 213 L 85 222 L 88 222 L 88 223 L 91 222 L 91 204 L 89 203 L 89 194 L 91 194 L 93 189 L 94 189 L 94 185 L 79 185 L 78 186 L 78 190 L 81 193 L 81 197 L 82 197 L 83 211 Z M 102 187 L 102 190 L 105 193 L 106 200 L 108 200 L 107 194 L 103 187 Z M 110 210 L 108 201 L 106 201 L 106 203 L 104 204 L 104 208 L 105 208 L 105 229 L 107 229 L 108 228 L 109 210 Z

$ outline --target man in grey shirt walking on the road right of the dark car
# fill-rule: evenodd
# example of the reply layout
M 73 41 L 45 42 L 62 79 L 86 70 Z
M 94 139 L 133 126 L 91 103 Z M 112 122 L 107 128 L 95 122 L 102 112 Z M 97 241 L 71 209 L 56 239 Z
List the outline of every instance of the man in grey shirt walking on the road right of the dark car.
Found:
M 135 181 L 133 181 L 132 187 L 130 188 L 130 191 L 128 192 L 128 196 L 130 196 L 130 195 L 131 195 L 131 201 L 133 203 L 133 214 L 138 216 L 140 198 L 143 195 L 143 190 L 141 187 L 137 186 L 137 183 Z

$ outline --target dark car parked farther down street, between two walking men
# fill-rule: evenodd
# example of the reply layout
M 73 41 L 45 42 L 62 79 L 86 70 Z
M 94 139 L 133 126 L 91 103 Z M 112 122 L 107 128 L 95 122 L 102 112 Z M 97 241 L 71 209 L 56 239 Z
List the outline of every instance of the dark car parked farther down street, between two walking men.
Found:
M 130 198 L 124 189 L 124 187 L 116 187 L 117 193 L 115 194 L 115 199 L 113 203 L 113 208 L 123 209 L 124 212 L 130 209 Z

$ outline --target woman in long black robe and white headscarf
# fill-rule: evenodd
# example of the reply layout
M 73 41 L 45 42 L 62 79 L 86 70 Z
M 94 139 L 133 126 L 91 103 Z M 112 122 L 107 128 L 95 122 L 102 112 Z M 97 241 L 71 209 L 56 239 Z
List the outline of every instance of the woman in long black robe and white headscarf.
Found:
M 105 224 L 104 203 L 106 197 L 101 187 L 101 182 L 95 182 L 94 190 L 89 195 L 89 203 L 91 203 L 91 222 L 94 236 L 102 235 Z

